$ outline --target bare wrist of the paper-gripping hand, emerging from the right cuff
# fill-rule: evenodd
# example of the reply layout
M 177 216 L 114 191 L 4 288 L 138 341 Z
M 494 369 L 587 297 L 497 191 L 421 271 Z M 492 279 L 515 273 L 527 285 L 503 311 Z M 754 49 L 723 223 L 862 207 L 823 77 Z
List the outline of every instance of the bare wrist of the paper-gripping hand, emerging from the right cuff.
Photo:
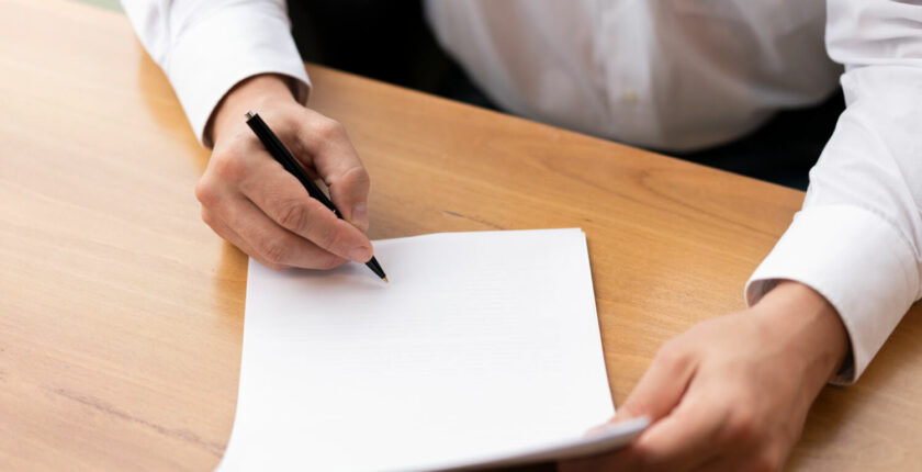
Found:
M 798 367 L 819 392 L 848 353 L 847 331 L 835 308 L 813 289 L 786 280 L 753 310 L 777 346 L 784 347 L 786 362 Z

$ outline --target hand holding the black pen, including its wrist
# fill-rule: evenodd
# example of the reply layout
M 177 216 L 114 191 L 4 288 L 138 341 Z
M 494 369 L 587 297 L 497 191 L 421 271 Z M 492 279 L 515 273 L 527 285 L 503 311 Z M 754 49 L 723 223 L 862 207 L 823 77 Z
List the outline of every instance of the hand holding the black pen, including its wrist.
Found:
M 247 126 L 259 113 L 312 177 L 319 177 L 344 220 L 312 199 Z M 262 265 L 331 269 L 372 257 L 369 176 L 342 126 L 299 104 L 285 81 L 256 76 L 235 87 L 211 124 L 214 151 L 195 186 L 202 220 Z

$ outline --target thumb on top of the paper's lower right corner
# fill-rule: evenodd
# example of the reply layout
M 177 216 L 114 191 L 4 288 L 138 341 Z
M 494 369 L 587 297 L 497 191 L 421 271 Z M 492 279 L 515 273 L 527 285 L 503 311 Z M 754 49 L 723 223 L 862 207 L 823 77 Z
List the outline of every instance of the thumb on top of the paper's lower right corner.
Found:
M 614 420 L 649 416 L 656 422 L 667 415 L 682 398 L 697 364 L 681 347 L 664 345 L 618 409 Z

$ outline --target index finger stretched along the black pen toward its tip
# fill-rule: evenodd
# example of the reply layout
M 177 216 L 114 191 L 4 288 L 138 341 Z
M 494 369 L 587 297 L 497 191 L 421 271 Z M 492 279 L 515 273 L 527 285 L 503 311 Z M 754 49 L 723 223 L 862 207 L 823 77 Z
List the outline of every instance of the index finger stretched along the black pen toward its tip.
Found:
M 364 262 L 371 259 L 368 237 L 339 220 L 323 203 L 312 199 L 304 186 L 265 151 L 239 189 L 279 226 L 340 258 Z

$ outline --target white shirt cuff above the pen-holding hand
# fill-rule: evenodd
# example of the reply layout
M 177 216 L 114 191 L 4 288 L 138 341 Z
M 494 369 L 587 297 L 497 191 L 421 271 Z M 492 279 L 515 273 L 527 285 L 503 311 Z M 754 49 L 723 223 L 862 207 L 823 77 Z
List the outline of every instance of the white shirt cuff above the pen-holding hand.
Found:
M 295 99 L 306 103 L 311 82 L 284 15 L 241 3 L 183 31 L 165 70 L 199 141 L 221 99 L 258 74 L 290 77 Z M 241 117 L 243 120 L 243 117 Z

